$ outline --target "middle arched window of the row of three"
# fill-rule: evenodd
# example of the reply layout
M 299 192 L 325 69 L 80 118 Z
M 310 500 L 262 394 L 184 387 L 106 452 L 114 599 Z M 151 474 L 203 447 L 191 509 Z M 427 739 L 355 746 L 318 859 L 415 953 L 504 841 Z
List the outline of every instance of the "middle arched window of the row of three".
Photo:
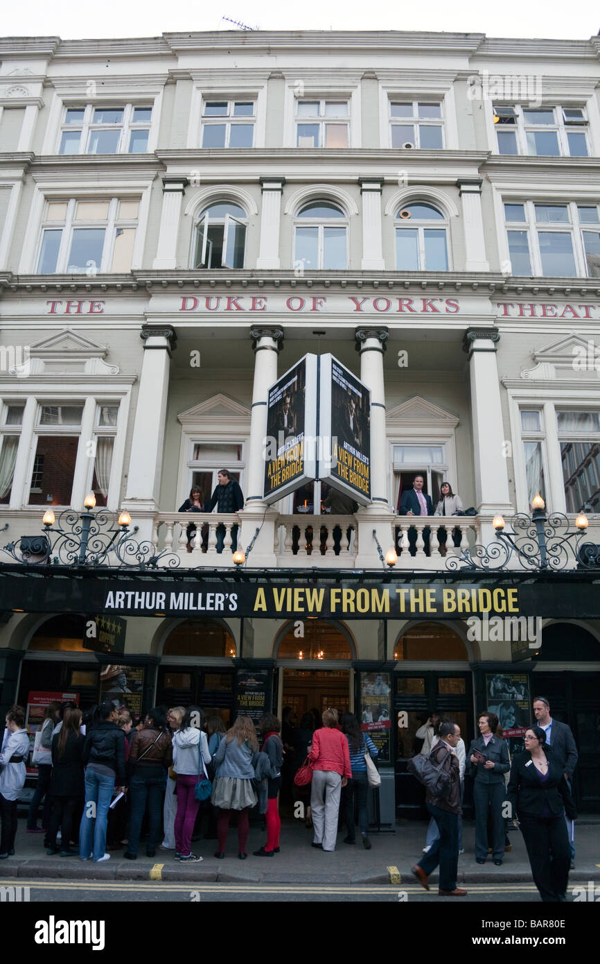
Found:
M 294 267 L 307 271 L 348 267 L 346 215 L 330 201 L 310 201 L 297 215 Z

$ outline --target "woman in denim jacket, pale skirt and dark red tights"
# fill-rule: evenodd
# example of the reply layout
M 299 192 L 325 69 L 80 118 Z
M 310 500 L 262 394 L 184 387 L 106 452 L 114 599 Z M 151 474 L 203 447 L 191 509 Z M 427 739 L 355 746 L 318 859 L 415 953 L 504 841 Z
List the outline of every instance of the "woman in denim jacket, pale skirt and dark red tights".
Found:
M 238 856 L 246 860 L 249 823 L 248 808 L 256 803 L 256 793 L 252 787 L 254 778 L 253 761 L 258 753 L 258 739 L 254 724 L 249 716 L 238 716 L 230 730 L 227 730 L 213 762 L 217 766 L 217 777 L 213 787 L 211 802 L 219 807 L 217 833 L 219 849 L 215 856 L 222 860 L 225 856 L 225 843 L 229 832 L 229 819 L 234 810 L 238 811 Z

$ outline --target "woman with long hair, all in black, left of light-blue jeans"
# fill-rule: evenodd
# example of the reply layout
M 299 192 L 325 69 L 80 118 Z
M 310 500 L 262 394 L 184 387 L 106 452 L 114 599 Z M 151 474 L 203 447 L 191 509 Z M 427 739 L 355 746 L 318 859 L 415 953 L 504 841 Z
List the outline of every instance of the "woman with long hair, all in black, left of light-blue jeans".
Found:
M 52 816 L 48 828 L 47 854 L 61 851 L 61 857 L 73 857 L 79 850 L 69 847 L 73 829 L 73 814 L 84 798 L 84 764 L 82 753 L 85 736 L 82 735 L 81 710 L 67 707 L 63 726 L 52 737 L 52 777 L 50 792 L 53 797 Z M 61 828 L 61 846 L 56 838 Z

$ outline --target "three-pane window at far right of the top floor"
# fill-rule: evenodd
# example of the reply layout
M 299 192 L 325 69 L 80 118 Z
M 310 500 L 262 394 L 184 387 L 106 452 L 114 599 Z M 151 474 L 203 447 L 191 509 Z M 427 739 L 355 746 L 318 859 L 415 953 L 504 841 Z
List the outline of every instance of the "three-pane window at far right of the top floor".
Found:
M 587 116 L 583 108 L 494 104 L 494 127 L 500 154 L 587 157 Z

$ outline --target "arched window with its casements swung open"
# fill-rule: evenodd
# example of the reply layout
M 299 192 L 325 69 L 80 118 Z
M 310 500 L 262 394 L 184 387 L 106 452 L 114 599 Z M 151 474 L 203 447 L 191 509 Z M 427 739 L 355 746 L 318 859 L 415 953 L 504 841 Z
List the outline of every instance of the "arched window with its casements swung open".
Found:
M 196 223 L 195 268 L 243 268 L 248 217 L 229 201 L 205 207 Z

